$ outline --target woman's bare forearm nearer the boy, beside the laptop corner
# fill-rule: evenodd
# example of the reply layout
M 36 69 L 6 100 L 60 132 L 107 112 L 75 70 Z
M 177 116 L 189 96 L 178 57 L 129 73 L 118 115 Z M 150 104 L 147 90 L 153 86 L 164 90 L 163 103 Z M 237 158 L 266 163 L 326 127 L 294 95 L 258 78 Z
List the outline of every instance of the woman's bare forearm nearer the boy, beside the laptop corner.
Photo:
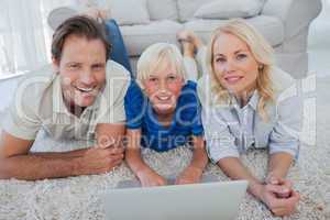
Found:
M 248 190 L 260 198 L 261 180 L 254 177 L 250 170 L 237 157 L 226 157 L 218 162 L 218 166 L 231 179 L 245 179 L 249 182 Z

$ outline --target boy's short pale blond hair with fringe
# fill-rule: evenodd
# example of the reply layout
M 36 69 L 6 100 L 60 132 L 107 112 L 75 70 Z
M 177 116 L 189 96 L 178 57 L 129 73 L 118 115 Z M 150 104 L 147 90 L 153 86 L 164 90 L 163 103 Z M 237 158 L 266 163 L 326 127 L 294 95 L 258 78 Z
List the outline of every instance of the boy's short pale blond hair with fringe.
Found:
M 164 62 L 175 67 L 176 74 L 187 80 L 184 58 L 178 47 L 169 43 L 155 43 L 142 53 L 138 62 L 136 81 L 142 89 L 143 81 Z

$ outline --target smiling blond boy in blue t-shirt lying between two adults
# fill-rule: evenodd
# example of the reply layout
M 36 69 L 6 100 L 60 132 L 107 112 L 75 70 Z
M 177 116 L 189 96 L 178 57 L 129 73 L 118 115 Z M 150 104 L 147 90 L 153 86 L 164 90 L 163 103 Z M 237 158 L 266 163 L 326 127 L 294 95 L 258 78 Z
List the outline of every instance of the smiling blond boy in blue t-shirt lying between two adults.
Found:
M 143 162 L 141 145 L 165 152 L 193 139 L 193 161 L 176 184 L 199 182 L 208 162 L 196 84 L 186 81 L 183 65 L 175 45 L 150 46 L 139 59 L 136 82 L 131 82 L 125 96 L 125 160 L 144 187 L 166 185 L 166 180 Z

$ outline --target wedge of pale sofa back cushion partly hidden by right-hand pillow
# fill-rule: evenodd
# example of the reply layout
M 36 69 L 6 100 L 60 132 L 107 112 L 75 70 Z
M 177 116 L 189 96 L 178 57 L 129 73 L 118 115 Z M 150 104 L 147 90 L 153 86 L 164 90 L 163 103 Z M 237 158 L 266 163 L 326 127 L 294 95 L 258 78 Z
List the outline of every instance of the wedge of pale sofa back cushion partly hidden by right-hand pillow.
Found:
M 215 0 L 177 0 L 179 20 L 183 22 L 191 20 L 197 9 L 212 1 Z

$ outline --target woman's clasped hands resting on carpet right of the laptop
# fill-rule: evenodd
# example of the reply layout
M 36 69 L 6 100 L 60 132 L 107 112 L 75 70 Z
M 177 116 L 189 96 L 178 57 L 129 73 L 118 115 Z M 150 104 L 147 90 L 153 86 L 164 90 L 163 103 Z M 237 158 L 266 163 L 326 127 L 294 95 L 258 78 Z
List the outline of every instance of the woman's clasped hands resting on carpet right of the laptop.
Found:
M 288 216 L 296 210 L 300 196 L 293 189 L 288 198 L 278 198 L 276 196 L 285 193 L 287 193 L 287 188 L 279 185 L 261 185 L 260 199 L 268 207 L 274 216 Z

